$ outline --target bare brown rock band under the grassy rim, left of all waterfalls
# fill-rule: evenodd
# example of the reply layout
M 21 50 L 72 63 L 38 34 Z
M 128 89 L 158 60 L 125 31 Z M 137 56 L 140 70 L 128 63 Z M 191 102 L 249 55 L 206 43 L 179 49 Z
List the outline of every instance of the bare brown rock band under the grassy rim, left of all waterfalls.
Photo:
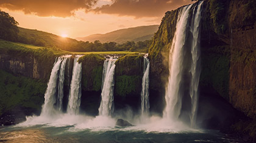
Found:
M 32 52 L 19 53 L 14 50 L 0 53 L 0 68 L 15 75 L 41 79 L 47 82 L 51 74 L 55 56 L 37 56 Z

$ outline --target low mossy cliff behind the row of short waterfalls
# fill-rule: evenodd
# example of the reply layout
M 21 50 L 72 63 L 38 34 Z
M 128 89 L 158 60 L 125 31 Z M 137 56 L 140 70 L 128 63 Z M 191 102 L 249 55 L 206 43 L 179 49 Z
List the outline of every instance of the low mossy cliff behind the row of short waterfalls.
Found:
M 0 116 L 22 112 L 23 114 L 19 116 L 21 116 L 20 120 L 24 120 L 25 115 L 40 114 L 55 58 L 61 55 L 52 53 L 47 48 L 16 47 L 9 42 L 7 45 L 10 47 L 2 47 L 0 50 L 1 97 L 4 99 L 2 102 L 5 102 L 1 104 Z M 66 71 L 69 69 L 69 75 L 65 74 L 64 104 L 68 102 L 73 61 L 72 56 L 69 68 L 66 67 Z M 98 115 L 104 61 L 104 55 L 95 54 L 84 55 L 78 61 L 82 63 L 81 111 L 88 115 Z M 134 107 L 135 111 L 138 110 L 142 76 L 143 55 L 121 55 L 116 61 L 114 93 L 116 110 L 124 107 Z M 134 100 L 136 102 L 133 102 Z M 15 118 L 6 119 L 9 121 L 3 121 L 2 124 L 15 124 L 18 122 Z

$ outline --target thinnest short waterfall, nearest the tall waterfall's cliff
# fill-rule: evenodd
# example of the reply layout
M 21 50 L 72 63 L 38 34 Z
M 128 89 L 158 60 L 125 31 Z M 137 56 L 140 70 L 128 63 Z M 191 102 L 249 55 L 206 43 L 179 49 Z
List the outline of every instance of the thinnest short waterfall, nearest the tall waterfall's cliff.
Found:
M 143 61 L 143 78 L 141 89 L 141 115 L 149 115 L 149 59 L 148 55 L 144 56 Z

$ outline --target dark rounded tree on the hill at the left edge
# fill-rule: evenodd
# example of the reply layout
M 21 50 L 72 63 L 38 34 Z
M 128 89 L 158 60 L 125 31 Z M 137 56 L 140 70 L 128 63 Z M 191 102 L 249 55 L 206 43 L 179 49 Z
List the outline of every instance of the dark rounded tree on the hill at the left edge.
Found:
M 18 22 L 9 13 L 0 10 L 0 39 L 17 41 Z

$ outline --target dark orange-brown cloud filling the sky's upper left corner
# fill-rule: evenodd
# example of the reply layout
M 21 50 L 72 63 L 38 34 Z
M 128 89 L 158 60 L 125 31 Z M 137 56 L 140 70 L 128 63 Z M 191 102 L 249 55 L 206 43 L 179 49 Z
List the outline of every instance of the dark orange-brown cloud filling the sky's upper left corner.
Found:
M 89 9 L 98 0 L 0 0 L 0 7 L 22 10 L 25 14 L 38 16 L 68 17 L 79 8 Z

